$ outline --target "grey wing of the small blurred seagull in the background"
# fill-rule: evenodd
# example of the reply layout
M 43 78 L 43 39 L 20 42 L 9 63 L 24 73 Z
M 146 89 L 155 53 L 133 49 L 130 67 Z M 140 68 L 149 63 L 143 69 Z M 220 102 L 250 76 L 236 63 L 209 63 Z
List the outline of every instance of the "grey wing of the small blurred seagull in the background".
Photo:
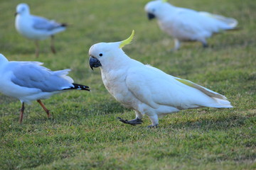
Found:
M 33 18 L 33 28 L 38 30 L 53 30 L 63 26 L 61 23 L 56 23 L 53 20 L 48 20 L 40 16 L 32 16 Z

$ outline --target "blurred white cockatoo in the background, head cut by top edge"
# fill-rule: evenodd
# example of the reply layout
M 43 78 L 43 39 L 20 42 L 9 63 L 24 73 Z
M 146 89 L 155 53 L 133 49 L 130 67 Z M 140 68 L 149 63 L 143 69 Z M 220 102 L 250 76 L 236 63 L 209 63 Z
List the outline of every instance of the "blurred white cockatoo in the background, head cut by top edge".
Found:
M 179 8 L 166 0 L 150 1 L 145 6 L 149 20 L 156 18 L 161 30 L 174 38 L 174 50 L 178 50 L 181 42 L 199 41 L 208 47 L 207 38 L 213 33 L 223 30 L 234 30 L 238 21 L 234 18 L 213 13 Z

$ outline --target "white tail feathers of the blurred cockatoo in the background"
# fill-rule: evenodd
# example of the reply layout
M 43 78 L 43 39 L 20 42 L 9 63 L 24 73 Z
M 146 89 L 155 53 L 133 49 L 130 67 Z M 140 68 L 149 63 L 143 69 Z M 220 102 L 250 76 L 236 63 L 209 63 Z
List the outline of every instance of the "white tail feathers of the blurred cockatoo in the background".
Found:
M 228 18 L 225 16 L 220 16 L 220 15 L 208 13 L 205 11 L 200 11 L 199 13 L 203 16 L 215 18 L 218 21 L 222 21 L 223 23 L 226 23 L 228 26 L 230 26 L 230 30 L 233 30 L 236 26 L 238 26 L 238 21 L 235 18 Z

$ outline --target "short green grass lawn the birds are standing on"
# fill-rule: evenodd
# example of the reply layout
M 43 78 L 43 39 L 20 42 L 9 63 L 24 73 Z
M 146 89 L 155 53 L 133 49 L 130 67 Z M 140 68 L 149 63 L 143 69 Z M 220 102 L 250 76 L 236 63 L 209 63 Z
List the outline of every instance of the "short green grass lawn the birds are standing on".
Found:
M 256 169 L 256 4 L 252 0 L 173 0 L 176 6 L 237 18 L 241 30 L 215 35 L 203 49 L 174 42 L 144 13 L 146 0 L 32 1 L 31 13 L 70 23 L 55 37 L 34 44 L 16 33 L 14 13 L 20 1 L 1 1 L 0 52 L 9 60 L 36 60 L 57 70 L 71 68 L 75 82 L 92 91 L 70 91 L 44 101 L 53 117 L 35 102 L 26 105 L 0 95 L 0 169 Z M 108 94 L 100 69 L 90 70 L 87 52 L 96 42 L 135 38 L 124 47 L 130 57 L 224 94 L 232 109 L 181 111 L 160 120 L 157 129 L 129 126 L 116 118 L 134 118 Z

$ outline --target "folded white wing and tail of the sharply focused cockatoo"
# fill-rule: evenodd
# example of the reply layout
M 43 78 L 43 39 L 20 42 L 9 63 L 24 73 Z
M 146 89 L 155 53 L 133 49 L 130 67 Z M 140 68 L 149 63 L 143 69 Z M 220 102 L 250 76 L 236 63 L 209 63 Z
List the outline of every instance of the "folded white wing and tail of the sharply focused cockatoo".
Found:
M 138 74 L 139 73 L 139 74 Z M 225 97 L 191 81 L 178 79 L 154 67 L 133 67 L 127 72 L 127 88 L 139 101 L 152 108 L 171 106 L 179 109 L 230 106 Z M 216 101 L 221 98 L 223 103 Z M 225 102 L 224 102 L 225 101 Z M 232 106 L 231 106 L 232 107 Z

